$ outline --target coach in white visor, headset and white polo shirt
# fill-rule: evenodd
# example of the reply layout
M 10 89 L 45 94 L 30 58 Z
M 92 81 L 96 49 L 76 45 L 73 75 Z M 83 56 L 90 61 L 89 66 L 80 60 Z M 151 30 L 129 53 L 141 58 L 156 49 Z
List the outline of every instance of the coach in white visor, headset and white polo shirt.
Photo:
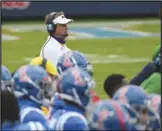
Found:
M 67 19 L 62 11 L 51 12 L 45 18 L 49 36 L 41 49 L 40 56 L 50 60 L 55 67 L 59 57 L 71 51 L 65 43 L 68 36 L 67 24 L 72 22 L 73 20 Z

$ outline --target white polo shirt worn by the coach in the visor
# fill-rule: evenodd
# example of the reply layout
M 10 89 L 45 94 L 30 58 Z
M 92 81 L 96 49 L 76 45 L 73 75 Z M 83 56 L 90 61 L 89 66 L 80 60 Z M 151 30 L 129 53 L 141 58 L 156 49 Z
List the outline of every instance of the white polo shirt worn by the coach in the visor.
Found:
M 57 67 L 59 57 L 68 51 L 71 50 L 65 44 L 61 45 L 55 38 L 48 36 L 41 49 L 40 56 L 50 60 Z

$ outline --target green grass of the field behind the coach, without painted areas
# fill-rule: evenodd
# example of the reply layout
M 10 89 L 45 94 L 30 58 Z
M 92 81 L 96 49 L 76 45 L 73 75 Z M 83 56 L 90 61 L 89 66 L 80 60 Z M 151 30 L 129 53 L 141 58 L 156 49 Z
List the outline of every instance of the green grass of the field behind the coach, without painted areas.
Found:
M 104 20 L 104 22 L 106 21 Z M 7 23 L 7 25 L 12 24 Z M 29 25 L 27 22 L 23 24 Z M 34 24 L 37 23 L 34 22 Z M 122 27 L 122 29 L 160 33 L 160 22 L 137 24 Z M 20 38 L 19 40 L 2 41 L 2 64 L 6 65 L 11 71 L 22 64 L 27 64 L 29 58 L 39 55 L 40 49 L 47 39 L 47 33 L 39 30 L 14 32 L 9 28 L 2 27 L 2 33 Z M 94 78 L 97 83 L 96 90 L 102 98 L 106 98 L 103 91 L 103 81 L 108 75 L 122 73 L 130 80 L 151 60 L 159 43 L 160 36 L 67 40 L 69 48 L 85 53 L 90 62 L 92 61 Z

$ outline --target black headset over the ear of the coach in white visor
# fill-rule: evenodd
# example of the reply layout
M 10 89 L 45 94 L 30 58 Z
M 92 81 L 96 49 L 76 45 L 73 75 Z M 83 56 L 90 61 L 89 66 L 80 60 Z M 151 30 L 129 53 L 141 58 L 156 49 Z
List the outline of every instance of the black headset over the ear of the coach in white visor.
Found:
M 56 17 L 56 12 L 52 12 L 47 16 L 46 25 L 47 25 L 47 31 L 50 35 L 52 35 L 53 32 L 56 30 L 56 25 L 52 22 Z

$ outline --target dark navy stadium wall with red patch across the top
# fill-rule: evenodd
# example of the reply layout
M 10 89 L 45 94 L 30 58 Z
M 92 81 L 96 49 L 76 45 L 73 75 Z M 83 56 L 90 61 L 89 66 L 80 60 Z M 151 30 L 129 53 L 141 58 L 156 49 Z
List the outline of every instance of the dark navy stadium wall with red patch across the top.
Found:
M 160 1 L 146 2 L 2 2 L 2 20 L 44 18 L 53 11 L 71 17 L 159 16 Z

